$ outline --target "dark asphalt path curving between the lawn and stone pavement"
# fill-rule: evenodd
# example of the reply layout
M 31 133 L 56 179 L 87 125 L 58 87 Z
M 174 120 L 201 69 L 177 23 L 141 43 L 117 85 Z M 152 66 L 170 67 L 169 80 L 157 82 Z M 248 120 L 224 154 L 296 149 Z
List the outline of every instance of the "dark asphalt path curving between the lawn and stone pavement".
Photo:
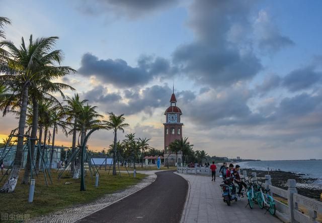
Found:
M 77 222 L 179 222 L 188 182 L 173 172 L 156 172 L 149 186 Z

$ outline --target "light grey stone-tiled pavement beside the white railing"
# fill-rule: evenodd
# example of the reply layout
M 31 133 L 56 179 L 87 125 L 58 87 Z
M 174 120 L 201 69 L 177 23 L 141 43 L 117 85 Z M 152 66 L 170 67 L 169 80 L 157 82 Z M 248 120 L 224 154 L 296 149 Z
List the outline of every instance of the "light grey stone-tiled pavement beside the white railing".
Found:
M 232 201 L 228 206 L 223 202 L 220 184 L 222 179 L 216 177 L 216 181 L 211 181 L 210 176 L 200 176 L 193 174 L 178 175 L 185 178 L 190 184 L 190 191 L 183 210 L 181 222 L 281 222 L 277 217 L 272 216 L 265 209 L 260 209 L 257 204 L 251 209 L 247 205 L 247 197 Z

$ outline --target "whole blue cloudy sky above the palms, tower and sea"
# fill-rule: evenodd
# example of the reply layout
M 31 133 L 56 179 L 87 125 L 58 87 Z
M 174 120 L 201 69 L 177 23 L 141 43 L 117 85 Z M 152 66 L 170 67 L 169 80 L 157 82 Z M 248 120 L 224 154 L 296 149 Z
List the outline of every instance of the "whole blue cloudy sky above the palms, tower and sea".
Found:
M 0 0 L 16 45 L 58 36 L 61 80 L 82 99 L 124 114 L 124 135 L 164 148 L 164 112 L 174 84 L 183 136 L 210 156 L 322 159 L 322 2 Z M 67 96 L 75 92 L 66 91 Z M 0 118 L 0 138 L 17 128 Z M 71 136 L 58 133 L 57 145 Z M 102 150 L 113 132 L 95 132 Z

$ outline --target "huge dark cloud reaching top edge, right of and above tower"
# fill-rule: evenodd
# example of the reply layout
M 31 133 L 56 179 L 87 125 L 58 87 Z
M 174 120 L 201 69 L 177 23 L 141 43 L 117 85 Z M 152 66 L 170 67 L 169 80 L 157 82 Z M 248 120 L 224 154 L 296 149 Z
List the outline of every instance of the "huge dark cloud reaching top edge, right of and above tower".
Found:
M 262 68 L 252 50 L 239 50 L 228 42 L 231 28 L 250 29 L 248 1 L 194 1 L 189 26 L 195 41 L 179 46 L 173 53 L 174 64 L 195 81 L 207 85 L 230 85 L 251 79 Z

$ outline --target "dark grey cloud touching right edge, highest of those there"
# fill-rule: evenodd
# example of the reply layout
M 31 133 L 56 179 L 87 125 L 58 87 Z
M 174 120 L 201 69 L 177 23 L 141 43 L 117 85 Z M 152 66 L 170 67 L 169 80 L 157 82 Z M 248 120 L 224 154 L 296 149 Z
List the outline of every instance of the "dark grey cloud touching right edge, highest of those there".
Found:
M 283 79 L 283 86 L 294 92 L 310 88 L 321 80 L 322 73 L 314 71 L 314 67 L 307 66 L 296 69 Z

